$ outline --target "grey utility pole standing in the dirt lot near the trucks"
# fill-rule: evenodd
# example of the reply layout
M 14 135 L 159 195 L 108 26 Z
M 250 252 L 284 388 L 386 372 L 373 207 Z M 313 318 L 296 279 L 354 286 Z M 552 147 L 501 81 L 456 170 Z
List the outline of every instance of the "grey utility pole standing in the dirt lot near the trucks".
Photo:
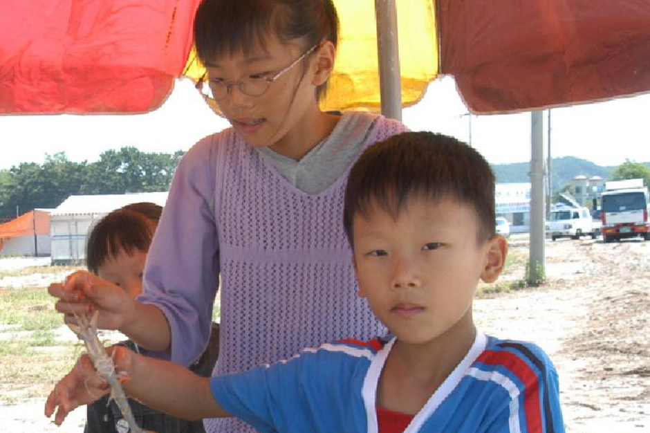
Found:
M 544 261 L 544 117 L 530 113 L 530 261 L 528 284 L 538 286 L 545 276 Z

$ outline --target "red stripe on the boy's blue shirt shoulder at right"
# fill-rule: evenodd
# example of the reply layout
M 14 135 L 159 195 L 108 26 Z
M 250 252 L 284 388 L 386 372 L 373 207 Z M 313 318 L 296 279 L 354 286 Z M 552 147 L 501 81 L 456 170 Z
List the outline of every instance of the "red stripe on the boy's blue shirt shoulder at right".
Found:
M 535 371 L 532 371 L 519 356 L 509 351 L 486 350 L 476 360 L 488 365 L 502 365 L 521 380 L 525 387 L 523 390 L 523 407 L 526 413 L 528 433 L 543 432 L 541 405 L 539 404 L 539 381 Z

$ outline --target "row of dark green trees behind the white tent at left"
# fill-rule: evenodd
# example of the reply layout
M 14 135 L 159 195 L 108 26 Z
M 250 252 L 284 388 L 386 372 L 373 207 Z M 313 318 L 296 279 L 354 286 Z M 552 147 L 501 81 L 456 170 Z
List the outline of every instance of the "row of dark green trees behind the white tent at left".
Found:
M 21 163 L 0 171 L 0 223 L 34 208 L 56 208 L 68 196 L 167 191 L 183 151 L 162 154 L 122 147 L 95 163 L 73 163 L 64 152 L 42 165 Z

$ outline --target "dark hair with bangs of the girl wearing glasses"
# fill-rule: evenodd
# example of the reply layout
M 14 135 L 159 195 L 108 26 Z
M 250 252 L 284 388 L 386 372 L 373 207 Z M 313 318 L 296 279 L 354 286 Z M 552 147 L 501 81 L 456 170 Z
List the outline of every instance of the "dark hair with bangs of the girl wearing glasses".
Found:
M 194 43 L 203 64 L 224 55 L 266 48 L 269 34 L 282 42 L 303 39 L 308 50 L 338 42 L 339 19 L 332 0 L 203 0 L 194 17 Z M 321 98 L 327 83 L 316 91 Z

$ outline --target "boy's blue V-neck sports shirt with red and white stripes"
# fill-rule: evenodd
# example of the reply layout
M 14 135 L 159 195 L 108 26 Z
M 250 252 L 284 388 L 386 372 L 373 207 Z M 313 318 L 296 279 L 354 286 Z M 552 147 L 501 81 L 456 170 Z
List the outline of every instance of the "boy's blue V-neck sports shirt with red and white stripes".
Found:
M 378 433 L 377 386 L 395 339 L 341 340 L 212 378 L 212 395 L 259 432 Z M 564 433 L 555 367 L 535 344 L 477 333 L 405 433 Z

